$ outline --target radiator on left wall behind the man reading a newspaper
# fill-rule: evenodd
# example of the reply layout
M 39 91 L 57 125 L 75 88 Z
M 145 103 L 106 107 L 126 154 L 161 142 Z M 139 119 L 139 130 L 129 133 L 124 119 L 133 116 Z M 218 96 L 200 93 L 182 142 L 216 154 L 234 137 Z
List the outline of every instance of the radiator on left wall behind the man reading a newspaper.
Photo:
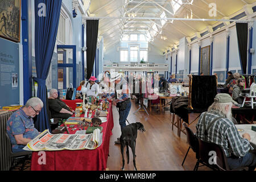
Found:
M 0 171 L 7 171 L 11 167 L 11 158 L 6 149 L 6 122 L 13 111 L 6 111 L 0 114 Z

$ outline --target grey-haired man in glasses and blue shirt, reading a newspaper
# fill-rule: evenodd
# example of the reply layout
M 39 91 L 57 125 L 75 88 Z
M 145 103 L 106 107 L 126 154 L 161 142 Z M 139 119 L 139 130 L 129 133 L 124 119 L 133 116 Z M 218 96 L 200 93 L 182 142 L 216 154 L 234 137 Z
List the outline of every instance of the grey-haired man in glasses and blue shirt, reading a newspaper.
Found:
M 44 104 L 38 97 L 30 98 L 26 105 L 15 111 L 6 123 L 6 131 L 11 140 L 13 152 L 23 151 L 23 147 L 38 134 L 33 118 L 40 113 Z

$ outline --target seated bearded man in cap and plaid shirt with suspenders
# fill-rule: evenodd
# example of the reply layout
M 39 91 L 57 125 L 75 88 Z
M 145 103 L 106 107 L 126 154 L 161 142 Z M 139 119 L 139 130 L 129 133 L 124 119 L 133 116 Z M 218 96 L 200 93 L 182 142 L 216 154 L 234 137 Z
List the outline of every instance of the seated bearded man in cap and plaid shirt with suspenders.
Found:
M 226 93 L 217 94 L 208 111 L 201 114 L 196 125 L 196 136 L 206 142 L 216 143 L 222 147 L 230 169 L 248 166 L 256 167 L 256 155 L 249 152 L 254 148 L 250 145 L 250 135 L 240 137 L 232 122 L 232 97 Z

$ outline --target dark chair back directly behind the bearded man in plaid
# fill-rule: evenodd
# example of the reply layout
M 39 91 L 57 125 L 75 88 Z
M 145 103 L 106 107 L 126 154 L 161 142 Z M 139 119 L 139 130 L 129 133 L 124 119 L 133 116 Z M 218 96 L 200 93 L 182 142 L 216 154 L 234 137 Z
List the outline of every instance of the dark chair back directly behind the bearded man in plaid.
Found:
M 224 151 L 218 144 L 199 139 L 199 155 L 200 159 L 209 166 L 216 168 L 217 165 L 221 170 L 229 170 Z

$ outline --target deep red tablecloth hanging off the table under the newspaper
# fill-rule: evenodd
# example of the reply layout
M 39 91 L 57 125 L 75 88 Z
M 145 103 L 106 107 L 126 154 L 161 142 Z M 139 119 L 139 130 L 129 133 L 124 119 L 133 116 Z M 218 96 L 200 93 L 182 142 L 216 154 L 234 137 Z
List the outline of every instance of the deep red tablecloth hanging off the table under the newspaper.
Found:
M 102 123 L 103 136 L 102 144 L 95 150 L 63 150 L 45 151 L 46 164 L 39 164 L 42 161 L 42 154 L 32 152 L 31 171 L 103 171 L 109 154 L 109 141 L 114 126 L 112 105 L 109 105 L 108 121 Z M 70 134 L 76 131 L 69 131 Z M 39 160 L 39 162 L 38 162 Z

